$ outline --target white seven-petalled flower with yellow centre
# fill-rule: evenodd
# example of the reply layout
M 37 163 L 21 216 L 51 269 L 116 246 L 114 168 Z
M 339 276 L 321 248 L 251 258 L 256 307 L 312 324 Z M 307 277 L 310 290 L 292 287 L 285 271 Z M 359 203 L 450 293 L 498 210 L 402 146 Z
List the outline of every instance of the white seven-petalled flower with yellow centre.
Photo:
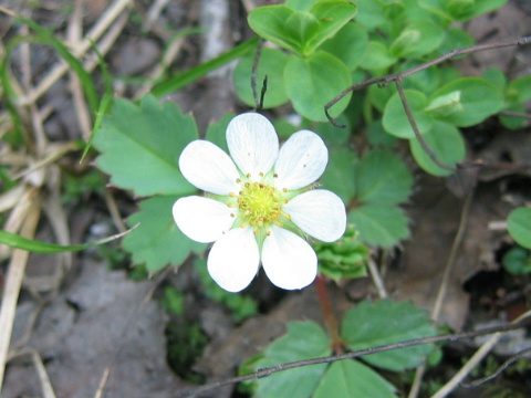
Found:
M 190 239 L 215 242 L 208 272 L 229 292 L 246 289 L 260 262 L 277 286 L 308 286 L 317 273 L 317 258 L 301 235 L 333 242 L 346 227 L 342 200 L 312 189 L 329 160 L 323 140 L 301 130 L 279 150 L 273 125 L 247 113 L 229 123 L 227 144 L 232 159 L 201 139 L 183 150 L 183 176 L 207 196 L 178 199 L 175 222 Z

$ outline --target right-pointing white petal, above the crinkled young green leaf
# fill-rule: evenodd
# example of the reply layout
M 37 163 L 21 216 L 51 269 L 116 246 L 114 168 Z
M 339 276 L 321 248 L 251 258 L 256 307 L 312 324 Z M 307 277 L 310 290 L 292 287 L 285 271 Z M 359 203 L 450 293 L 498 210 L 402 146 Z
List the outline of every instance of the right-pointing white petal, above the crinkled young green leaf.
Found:
M 345 205 L 335 193 L 325 189 L 298 195 L 282 210 L 291 216 L 300 229 L 324 242 L 333 242 L 345 233 Z

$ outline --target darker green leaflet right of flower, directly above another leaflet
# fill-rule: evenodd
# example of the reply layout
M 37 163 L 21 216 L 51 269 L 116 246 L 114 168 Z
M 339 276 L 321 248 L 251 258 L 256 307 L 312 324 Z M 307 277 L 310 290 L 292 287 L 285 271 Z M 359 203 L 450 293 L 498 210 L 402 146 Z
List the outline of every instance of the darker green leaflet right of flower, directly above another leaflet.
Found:
M 398 203 L 412 193 L 413 176 L 388 149 L 367 153 L 356 168 L 356 197 L 363 202 Z

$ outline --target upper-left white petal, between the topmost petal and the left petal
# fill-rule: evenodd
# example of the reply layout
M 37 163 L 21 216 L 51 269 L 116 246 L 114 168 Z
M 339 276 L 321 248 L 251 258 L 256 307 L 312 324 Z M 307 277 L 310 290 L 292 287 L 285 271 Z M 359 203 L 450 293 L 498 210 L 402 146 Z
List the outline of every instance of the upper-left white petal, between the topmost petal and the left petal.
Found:
M 179 157 L 183 176 L 204 191 L 229 195 L 238 192 L 240 177 L 232 159 L 218 146 L 197 139 L 186 146 Z

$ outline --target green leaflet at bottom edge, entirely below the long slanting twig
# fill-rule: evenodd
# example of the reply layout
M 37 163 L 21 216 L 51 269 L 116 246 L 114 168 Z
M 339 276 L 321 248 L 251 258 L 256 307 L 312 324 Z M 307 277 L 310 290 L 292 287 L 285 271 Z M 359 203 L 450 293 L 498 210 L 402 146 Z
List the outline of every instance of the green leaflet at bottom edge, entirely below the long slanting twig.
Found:
M 333 363 L 324 374 L 313 398 L 396 398 L 395 387 L 357 360 Z

